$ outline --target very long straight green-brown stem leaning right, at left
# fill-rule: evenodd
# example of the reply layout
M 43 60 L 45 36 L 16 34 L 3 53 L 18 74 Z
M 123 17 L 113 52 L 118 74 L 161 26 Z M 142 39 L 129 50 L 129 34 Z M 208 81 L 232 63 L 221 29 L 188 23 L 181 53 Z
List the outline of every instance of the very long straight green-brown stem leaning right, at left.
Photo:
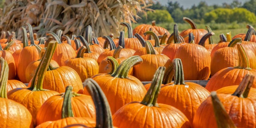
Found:
M 44 90 L 42 88 L 42 84 L 43 84 L 43 81 L 44 81 L 44 76 L 45 76 L 46 71 L 49 67 L 50 60 L 52 59 L 52 56 L 53 56 L 54 51 L 56 49 L 56 46 L 57 46 L 56 41 L 51 41 L 48 44 L 47 49 L 45 51 L 45 54 L 42 57 L 38 68 L 36 69 L 36 73 L 35 73 L 34 77 L 32 78 L 31 86 L 30 86 L 30 88 L 28 88 L 29 90 L 32 90 L 32 91 Z

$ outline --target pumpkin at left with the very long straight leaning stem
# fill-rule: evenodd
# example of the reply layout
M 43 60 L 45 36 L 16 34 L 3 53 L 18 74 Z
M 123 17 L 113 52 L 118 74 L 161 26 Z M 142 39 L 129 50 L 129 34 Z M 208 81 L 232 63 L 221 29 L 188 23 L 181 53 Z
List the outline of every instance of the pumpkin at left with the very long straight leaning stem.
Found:
M 48 44 L 45 55 L 36 69 L 36 74 L 29 83 L 29 88 L 15 88 L 8 92 L 9 99 L 23 104 L 26 108 L 28 108 L 29 112 L 32 114 L 34 123 L 36 121 L 36 114 L 44 101 L 46 101 L 49 97 L 58 94 L 58 92 L 44 90 L 42 88 L 44 76 L 50 64 L 50 60 L 56 45 L 57 42 L 50 42 Z

